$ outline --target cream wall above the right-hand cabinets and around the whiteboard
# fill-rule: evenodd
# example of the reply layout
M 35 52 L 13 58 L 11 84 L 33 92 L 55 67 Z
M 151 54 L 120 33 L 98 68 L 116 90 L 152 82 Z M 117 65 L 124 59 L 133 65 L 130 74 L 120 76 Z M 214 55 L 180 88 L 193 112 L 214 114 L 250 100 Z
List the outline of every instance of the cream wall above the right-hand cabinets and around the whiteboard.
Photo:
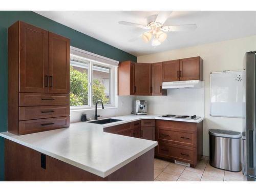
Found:
M 166 41 L 165 43 L 169 43 Z M 171 43 L 171 42 L 170 42 Z M 243 119 L 240 118 L 225 118 L 225 117 L 211 117 L 210 112 L 210 90 L 209 90 L 209 75 L 210 72 L 223 71 L 223 70 L 241 70 L 246 66 L 246 52 L 256 50 L 256 35 L 215 42 L 212 44 L 205 44 L 196 47 L 188 47 L 178 50 L 170 50 L 161 53 L 144 55 L 137 57 L 138 62 L 159 62 L 165 60 L 173 60 L 194 56 L 201 56 L 203 59 L 203 80 L 205 81 L 205 120 L 204 120 L 204 150 L 203 154 L 209 155 L 209 137 L 208 129 L 226 129 L 240 131 L 243 130 Z M 189 91 L 189 90 L 188 90 Z M 141 97 L 142 98 L 142 97 Z M 147 97 L 145 97 L 147 98 Z M 161 99 L 163 98 L 163 99 Z M 189 99 L 189 93 L 184 98 L 184 102 Z M 167 98 L 160 97 L 157 99 L 161 101 L 168 101 Z M 172 100 L 172 99 L 169 99 Z M 175 102 L 175 100 L 172 100 Z M 178 102 L 180 102 L 178 100 Z M 150 105 L 150 103 L 149 103 Z M 156 108 L 162 109 L 162 105 Z M 173 109 L 172 109 L 173 110 Z M 177 109 L 179 110 L 179 109 Z M 154 110 L 151 110 L 154 113 Z

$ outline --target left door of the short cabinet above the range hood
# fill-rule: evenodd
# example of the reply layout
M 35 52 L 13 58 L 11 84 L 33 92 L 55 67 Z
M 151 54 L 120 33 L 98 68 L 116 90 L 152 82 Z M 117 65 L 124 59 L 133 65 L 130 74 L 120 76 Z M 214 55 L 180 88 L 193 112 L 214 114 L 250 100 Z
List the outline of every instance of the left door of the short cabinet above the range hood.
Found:
M 170 60 L 162 62 L 162 81 L 180 80 L 180 62 L 179 60 Z

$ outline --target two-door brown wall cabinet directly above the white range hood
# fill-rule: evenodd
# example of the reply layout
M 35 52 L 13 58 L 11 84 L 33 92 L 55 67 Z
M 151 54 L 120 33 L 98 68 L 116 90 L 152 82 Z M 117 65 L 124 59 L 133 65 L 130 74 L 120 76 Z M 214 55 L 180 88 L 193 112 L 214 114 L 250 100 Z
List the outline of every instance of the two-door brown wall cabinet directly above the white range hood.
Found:
M 203 61 L 201 57 L 171 60 L 163 62 L 163 82 L 203 80 Z

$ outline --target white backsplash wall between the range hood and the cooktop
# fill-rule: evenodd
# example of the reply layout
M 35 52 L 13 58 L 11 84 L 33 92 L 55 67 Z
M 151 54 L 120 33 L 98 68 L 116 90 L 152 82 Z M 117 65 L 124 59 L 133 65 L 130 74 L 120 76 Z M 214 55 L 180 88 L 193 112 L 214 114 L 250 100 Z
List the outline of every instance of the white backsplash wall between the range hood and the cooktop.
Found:
M 167 90 L 167 96 L 137 96 L 148 101 L 148 114 L 204 117 L 204 84 L 200 89 Z

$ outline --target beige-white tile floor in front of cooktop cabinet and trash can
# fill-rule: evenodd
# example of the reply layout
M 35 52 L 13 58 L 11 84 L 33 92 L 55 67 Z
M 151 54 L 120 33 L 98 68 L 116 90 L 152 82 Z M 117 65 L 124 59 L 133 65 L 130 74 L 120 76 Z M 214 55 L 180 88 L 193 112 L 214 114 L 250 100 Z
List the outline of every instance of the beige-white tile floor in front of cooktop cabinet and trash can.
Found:
M 228 172 L 201 160 L 196 168 L 155 159 L 155 181 L 245 181 L 242 172 Z

